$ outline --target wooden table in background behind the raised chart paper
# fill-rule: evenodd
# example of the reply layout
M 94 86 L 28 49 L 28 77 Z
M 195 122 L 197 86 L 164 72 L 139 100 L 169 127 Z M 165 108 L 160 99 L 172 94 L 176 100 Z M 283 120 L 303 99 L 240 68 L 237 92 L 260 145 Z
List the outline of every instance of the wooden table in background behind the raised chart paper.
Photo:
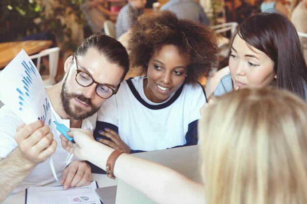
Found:
M 28 55 L 48 49 L 52 41 L 18 41 L 0 43 L 0 69 L 4 68 L 22 49 Z

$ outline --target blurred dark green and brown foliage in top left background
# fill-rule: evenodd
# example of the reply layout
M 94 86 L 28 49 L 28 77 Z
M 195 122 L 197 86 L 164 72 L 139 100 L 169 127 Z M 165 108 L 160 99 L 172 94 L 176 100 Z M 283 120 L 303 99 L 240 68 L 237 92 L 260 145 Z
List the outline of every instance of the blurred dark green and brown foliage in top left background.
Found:
M 0 0 L 0 42 L 21 40 L 41 31 L 55 36 L 61 52 L 75 50 L 72 27 L 86 22 L 82 0 Z M 34 23 L 35 22 L 35 23 Z

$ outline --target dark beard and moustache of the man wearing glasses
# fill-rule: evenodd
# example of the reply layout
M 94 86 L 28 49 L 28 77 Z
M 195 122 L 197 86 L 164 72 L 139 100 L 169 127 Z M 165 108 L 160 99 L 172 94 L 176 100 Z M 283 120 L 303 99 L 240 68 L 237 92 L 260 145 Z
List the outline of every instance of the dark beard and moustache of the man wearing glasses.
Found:
M 63 109 L 66 114 L 68 114 L 70 117 L 74 118 L 75 120 L 83 120 L 85 118 L 88 118 L 92 116 L 94 113 L 96 113 L 100 107 L 95 106 L 89 98 L 86 98 L 82 94 L 76 94 L 76 93 L 68 93 L 67 87 L 66 87 L 66 80 L 67 77 L 64 79 L 63 86 L 61 89 L 61 101 L 63 105 Z M 71 99 L 77 98 L 79 101 L 82 101 L 83 103 L 87 104 L 91 109 L 87 112 L 85 112 L 84 109 L 82 109 L 79 106 L 74 106 L 74 110 L 71 107 Z

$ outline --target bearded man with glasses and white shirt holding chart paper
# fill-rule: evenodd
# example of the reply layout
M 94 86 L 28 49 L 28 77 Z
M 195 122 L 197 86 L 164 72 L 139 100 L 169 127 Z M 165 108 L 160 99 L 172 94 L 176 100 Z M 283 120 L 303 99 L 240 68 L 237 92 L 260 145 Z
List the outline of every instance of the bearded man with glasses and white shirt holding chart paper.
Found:
M 46 90 L 51 121 L 93 131 L 98 109 L 117 92 L 128 69 L 127 51 L 118 41 L 105 35 L 85 39 L 65 61 L 63 80 Z M 71 158 L 59 135 L 53 123 L 26 125 L 5 105 L 0 109 L 0 203 L 30 185 L 54 181 L 49 157 L 65 190 L 90 183 L 91 168 Z

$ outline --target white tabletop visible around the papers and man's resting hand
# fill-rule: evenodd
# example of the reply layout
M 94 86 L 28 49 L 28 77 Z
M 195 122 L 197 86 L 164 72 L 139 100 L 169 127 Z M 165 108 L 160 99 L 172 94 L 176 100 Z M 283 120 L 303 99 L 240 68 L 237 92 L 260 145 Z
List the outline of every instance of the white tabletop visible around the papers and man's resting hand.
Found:
M 98 182 L 99 187 L 107 187 L 112 185 L 117 185 L 118 180 L 113 180 L 108 178 L 105 174 L 93 174 L 93 181 Z M 54 181 L 52 183 L 47 184 L 46 186 L 55 186 L 60 185 L 59 181 Z M 2 204 L 24 204 L 26 198 L 26 191 L 19 192 L 15 195 L 9 196 Z

